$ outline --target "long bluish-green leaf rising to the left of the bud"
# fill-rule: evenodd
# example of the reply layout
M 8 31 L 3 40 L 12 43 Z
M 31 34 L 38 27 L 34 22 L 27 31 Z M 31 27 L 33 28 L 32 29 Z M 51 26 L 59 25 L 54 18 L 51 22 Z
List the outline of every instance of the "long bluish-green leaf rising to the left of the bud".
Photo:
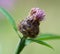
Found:
M 13 26 L 13 29 L 16 31 L 16 33 L 18 34 L 18 36 L 20 37 L 19 33 L 18 33 L 18 29 L 16 26 L 16 23 L 13 19 L 13 17 L 2 7 L 0 7 L 0 12 L 6 16 L 7 20 L 10 22 L 10 24 Z M 21 37 L 20 37 L 21 38 Z

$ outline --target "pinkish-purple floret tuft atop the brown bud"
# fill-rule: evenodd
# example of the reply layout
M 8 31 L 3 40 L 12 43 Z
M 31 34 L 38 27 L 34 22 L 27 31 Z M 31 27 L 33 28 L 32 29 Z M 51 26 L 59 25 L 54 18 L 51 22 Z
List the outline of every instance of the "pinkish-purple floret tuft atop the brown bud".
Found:
M 30 11 L 30 16 L 34 16 L 34 18 L 42 21 L 45 17 L 45 13 L 39 8 L 32 8 Z

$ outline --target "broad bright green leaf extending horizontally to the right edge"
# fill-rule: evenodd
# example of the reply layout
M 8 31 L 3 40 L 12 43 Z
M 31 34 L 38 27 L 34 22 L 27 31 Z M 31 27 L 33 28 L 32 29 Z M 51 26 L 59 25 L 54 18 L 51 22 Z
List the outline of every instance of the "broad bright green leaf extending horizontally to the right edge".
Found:
M 53 39 L 60 39 L 60 35 L 55 35 L 55 34 L 40 34 L 36 38 L 36 40 L 53 40 Z

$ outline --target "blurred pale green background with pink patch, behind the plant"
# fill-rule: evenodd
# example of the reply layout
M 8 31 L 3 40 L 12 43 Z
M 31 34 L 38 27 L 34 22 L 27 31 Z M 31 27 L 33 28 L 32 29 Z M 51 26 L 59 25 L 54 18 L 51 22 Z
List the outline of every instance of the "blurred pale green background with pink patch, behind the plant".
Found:
M 31 8 L 44 9 L 46 17 L 40 25 L 41 33 L 60 35 L 60 0 L 9 0 L 9 3 L 1 4 L 5 2 L 0 0 L 0 6 L 4 7 L 14 17 L 16 24 L 26 18 Z M 14 54 L 18 41 L 19 37 L 11 24 L 0 13 L 0 54 Z M 26 46 L 21 54 L 60 54 L 60 40 L 46 42 L 52 45 L 55 51 L 43 45 L 32 43 Z

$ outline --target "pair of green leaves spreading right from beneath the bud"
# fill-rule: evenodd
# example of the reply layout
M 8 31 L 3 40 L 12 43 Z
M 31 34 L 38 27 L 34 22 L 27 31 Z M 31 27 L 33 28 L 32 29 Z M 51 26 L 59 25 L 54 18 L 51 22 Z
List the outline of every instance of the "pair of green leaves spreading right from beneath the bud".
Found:
M 53 40 L 53 39 L 60 39 L 60 35 L 55 35 L 55 34 L 40 34 L 40 35 L 38 35 L 37 38 L 35 38 L 35 39 L 31 39 L 30 38 L 30 39 L 28 39 L 28 41 L 36 42 L 36 43 L 45 45 L 45 46 L 53 49 L 52 46 L 50 46 L 46 42 L 42 41 L 42 40 Z

